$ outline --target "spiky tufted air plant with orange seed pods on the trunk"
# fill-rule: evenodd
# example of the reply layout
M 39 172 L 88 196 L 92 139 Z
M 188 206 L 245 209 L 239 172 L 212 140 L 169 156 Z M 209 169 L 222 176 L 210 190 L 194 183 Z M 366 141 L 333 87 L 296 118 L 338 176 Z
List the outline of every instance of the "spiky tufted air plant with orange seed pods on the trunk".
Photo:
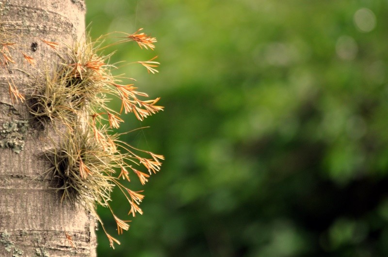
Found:
M 54 70 L 32 79 L 32 87 L 21 93 L 9 81 L 12 101 L 26 102 L 33 117 L 46 126 L 52 126 L 58 138 L 52 138 L 52 148 L 45 153 L 50 168 L 44 172 L 51 181 L 51 187 L 62 193 L 62 202 L 78 203 L 86 208 L 100 222 L 110 245 L 119 243 L 103 225 L 96 212 L 96 205 L 109 208 L 117 224 L 118 234 L 129 229 L 129 221 L 117 217 L 109 204 L 111 192 L 117 187 L 128 200 L 129 215 L 142 214 L 139 204 L 143 191 L 132 191 L 126 183 L 136 175 L 144 185 L 152 173 L 160 170 L 164 157 L 150 151 L 142 151 L 123 142 L 119 134 L 113 133 L 124 122 L 120 115 L 133 113 L 139 121 L 163 110 L 158 106 L 159 98 L 147 99 L 148 94 L 138 91 L 133 78 L 114 76 L 116 66 L 110 64 L 113 52 L 104 54 L 114 45 L 130 41 L 140 48 L 155 48 L 156 39 L 137 30 L 132 34 L 116 32 L 91 40 L 85 35 L 83 41 L 67 45 L 39 39 L 55 52 L 58 64 Z M 120 38 L 110 45 L 103 45 L 108 37 Z M 1 43 L 2 65 L 13 63 L 9 47 L 17 45 Z M 37 44 L 31 45 L 36 49 Z M 26 63 L 34 66 L 35 60 L 21 53 Z M 155 57 L 156 58 L 156 57 Z M 159 62 L 155 58 L 134 61 L 143 65 L 148 73 L 155 74 Z M 42 79 L 43 78 L 43 79 Z M 108 105 L 110 99 L 121 102 L 120 110 Z M 147 173 L 141 171 L 144 166 Z M 131 175 L 132 174 L 132 175 Z M 121 179 L 124 180 L 121 181 Z M 114 248 L 114 247 L 113 247 Z

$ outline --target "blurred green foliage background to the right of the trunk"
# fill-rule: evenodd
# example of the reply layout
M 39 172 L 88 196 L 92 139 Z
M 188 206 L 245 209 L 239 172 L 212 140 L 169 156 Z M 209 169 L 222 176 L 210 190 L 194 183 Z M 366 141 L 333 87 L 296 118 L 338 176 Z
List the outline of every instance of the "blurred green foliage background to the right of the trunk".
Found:
M 122 71 L 165 106 L 125 118 L 150 126 L 125 140 L 166 160 L 98 256 L 388 256 L 387 0 L 86 3 L 93 37 L 157 37 L 113 61 L 159 55 L 159 74 Z M 126 219 L 119 194 L 113 209 Z

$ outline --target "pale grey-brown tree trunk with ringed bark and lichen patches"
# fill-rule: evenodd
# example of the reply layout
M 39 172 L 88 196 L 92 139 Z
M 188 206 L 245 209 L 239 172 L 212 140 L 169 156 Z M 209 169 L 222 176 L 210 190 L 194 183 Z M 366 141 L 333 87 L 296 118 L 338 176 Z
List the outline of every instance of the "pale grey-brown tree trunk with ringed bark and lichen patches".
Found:
M 52 148 L 53 130 L 36 126 L 25 103 L 9 93 L 15 85 L 27 98 L 32 81 L 55 70 L 58 57 L 42 40 L 72 45 L 82 39 L 84 1 L 0 4 L 0 256 L 96 256 L 95 219 L 61 203 L 49 178 L 39 177 L 49 166 L 42 155 Z

